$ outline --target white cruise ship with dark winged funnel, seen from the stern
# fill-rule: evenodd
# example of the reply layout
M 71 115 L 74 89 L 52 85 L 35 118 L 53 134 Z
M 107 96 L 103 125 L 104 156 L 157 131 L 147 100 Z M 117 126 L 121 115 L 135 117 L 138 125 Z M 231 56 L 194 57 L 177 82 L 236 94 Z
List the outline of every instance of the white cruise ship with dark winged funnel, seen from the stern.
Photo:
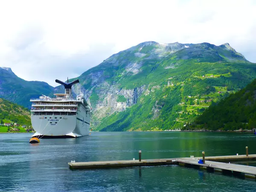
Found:
M 65 87 L 65 93 L 55 93 L 55 98 L 42 95 L 38 99 L 30 99 L 31 123 L 36 131 L 32 137 L 37 138 L 76 138 L 89 134 L 91 108 L 82 93 L 73 99 L 71 83 L 56 83 Z

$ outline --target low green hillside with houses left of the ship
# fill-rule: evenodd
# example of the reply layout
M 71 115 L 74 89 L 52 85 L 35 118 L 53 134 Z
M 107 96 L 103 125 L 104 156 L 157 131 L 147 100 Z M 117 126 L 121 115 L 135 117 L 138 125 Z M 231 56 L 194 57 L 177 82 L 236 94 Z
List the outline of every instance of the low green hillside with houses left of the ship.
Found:
M 13 122 L 20 125 L 31 125 L 30 112 L 23 106 L 0 98 L 0 122 Z

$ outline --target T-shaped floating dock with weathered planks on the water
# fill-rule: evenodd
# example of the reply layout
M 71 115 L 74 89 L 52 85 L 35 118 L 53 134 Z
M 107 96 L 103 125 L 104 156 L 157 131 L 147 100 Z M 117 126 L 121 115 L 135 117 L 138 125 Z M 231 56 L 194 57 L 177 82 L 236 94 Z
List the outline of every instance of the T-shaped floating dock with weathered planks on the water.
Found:
M 141 157 L 141 154 L 140 154 Z M 93 161 L 93 162 L 72 162 L 68 163 L 70 169 L 111 169 L 121 167 L 137 166 L 160 166 L 160 165 L 180 165 L 195 169 L 206 169 L 209 172 L 222 172 L 227 175 L 238 177 L 250 177 L 256 179 L 256 167 L 245 166 L 233 163 L 223 163 L 219 161 L 236 161 L 236 160 L 256 160 L 256 154 L 251 155 L 229 155 L 205 157 L 205 163 L 200 164 L 198 160 L 202 157 L 188 158 L 166 158 L 166 159 L 149 159 L 149 160 L 117 160 L 117 161 Z

